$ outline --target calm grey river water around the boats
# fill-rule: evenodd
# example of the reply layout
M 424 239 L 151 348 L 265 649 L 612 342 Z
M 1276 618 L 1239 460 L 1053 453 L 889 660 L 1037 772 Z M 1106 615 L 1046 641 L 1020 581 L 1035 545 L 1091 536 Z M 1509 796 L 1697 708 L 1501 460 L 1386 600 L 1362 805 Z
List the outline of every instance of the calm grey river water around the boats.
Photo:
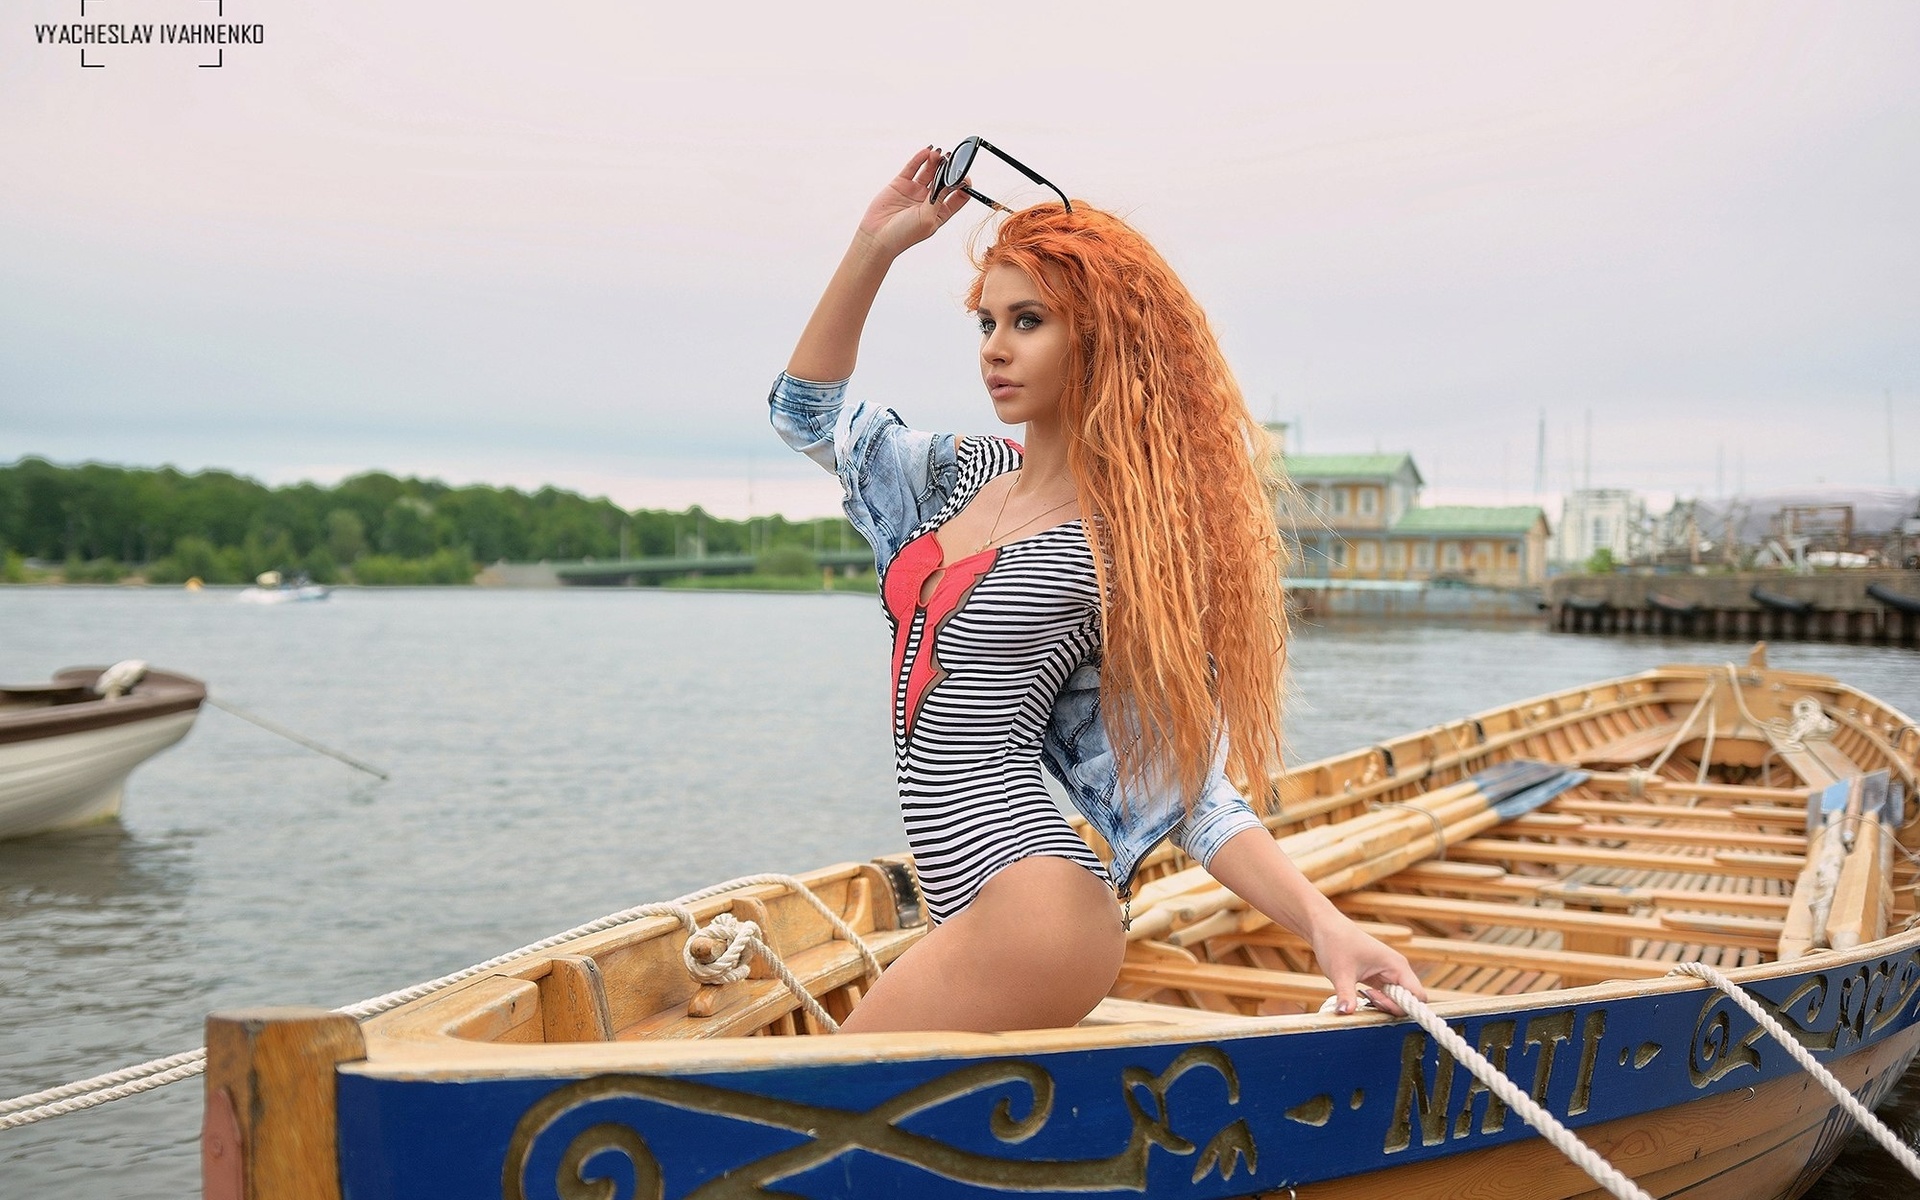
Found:
M 1302 630 L 1292 756 L 1745 647 L 1532 628 Z M 348 1004 L 630 904 L 904 845 L 872 597 L 0 589 L 0 678 L 148 659 L 219 710 L 121 822 L 0 843 L 0 1098 L 198 1046 L 207 1010 Z M 1920 655 L 1776 645 L 1920 714 Z M 0 1196 L 200 1194 L 198 1081 L 0 1133 Z M 1889 1110 L 1920 1127 L 1920 1069 Z M 1855 1139 L 1864 1146 L 1862 1139 Z M 1816 1196 L 1914 1194 L 1849 1150 Z

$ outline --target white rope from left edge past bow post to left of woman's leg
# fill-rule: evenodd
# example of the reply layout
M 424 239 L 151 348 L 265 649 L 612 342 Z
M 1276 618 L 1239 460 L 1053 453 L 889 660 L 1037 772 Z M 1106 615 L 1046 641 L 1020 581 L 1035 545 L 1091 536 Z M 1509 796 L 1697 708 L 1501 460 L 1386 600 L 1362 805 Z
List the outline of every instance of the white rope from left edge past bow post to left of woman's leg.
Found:
M 879 958 L 874 956 L 874 950 L 864 941 L 860 941 L 860 935 L 854 931 L 854 927 L 849 925 L 845 920 L 841 920 L 837 912 L 828 908 L 826 900 L 816 897 L 810 887 L 806 887 L 793 876 L 741 876 L 737 879 L 728 879 L 726 883 L 714 883 L 712 887 L 691 891 L 676 900 L 622 908 L 620 912 L 607 914 L 584 925 L 574 925 L 564 933 L 555 933 L 553 937 L 543 937 L 536 943 L 524 945 L 518 950 L 509 950 L 505 954 L 488 958 L 486 962 L 463 968 L 459 972 L 453 972 L 451 975 L 442 975 L 440 979 L 432 979 L 428 983 L 415 983 L 413 987 L 403 987 L 399 991 L 386 993 L 384 996 L 361 1000 L 359 1004 L 348 1004 L 346 1008 L 336 1008 L 334 1012 L 346 1014 L 355 1020 L 367 1020 L 371 1016 L 388 1012 L 392 1008 L 399 1008 L 401 1004 L 419 1000 L 420 996 L 428 996 L 436 991 L 447 989 L 465 979 L 472 979 L 474 975 L 492 972 L 493 968 L 513 962 L 515 958 L 538 954 L 540 950 L 553 948 L 564 941 L 586 937 L 589 933 L 603 933 L 607 929 L 612 929 L 614 925 L 624 925 L 649 916 L 680 918 L 680 924 L 685 925 L 687 933 L 691 935 L 697 933 L 697 922 L 693 920 L 693 914 L 687 912 L 687 904 L 716 897 L 726 891 L 735 891 L 739 887 L 753 887 L 760 883 L 778 883 L 781 887 L 787 887 L 803 900 L 812 904 L 814 910 L 818 910 L 828 920 L 828 924 L 833 925 L 835 933 L 851 941 L 860 950 L 860 960 L 866 964 L 868 979 L 879 975 Z M 764 943 L 760 943 L 760 952 L 768 958 L 768 964 L 774 966 L 776 973 L 780 973 L 781 983 L 793 989 L 797 996 L 804 996 L 804 1000 L 812 1000 L 812 1004 L 818 1006 L 818 1000 L 812 998 L 812 993 L 808 993 L 801 985 L 801 981 L 795 979 L 791 972 L 787 972 L 785 964 L 780 962 L 780 958 L 770 948 L 766 948 Z M 824 1012 L 826 1010 L 816 1012 L 814 1020 L 822 1020 L 829 1029 L 837 1029 L 837 1025 L 833 1025 L 831 1020 L 824 1018 Z M 142 1062 L 138 1066 L 108 1071 L 104 1075 L 94 1075 L 90 1079 L 77 1079 L 73 1083 L 63 1083 L 60 1087 L 50 1087 L 46 1091 L 27 1092 L 25 1096 L 13 1096 L 12 1100 L 0 1100 L 0 1131 L 17 1129 L 21 1125 L 33 1125 L 35 1121 L 65 1116 L 69 1112 L 81 1112 L 83 1108 L 94 1108 L 109 1100 L 136 1096 L 140 1092 L 148 1092 L 157 1087 L 165 1087 L 169 1083 L 179 1083 L 180 1079 L 192 1079 L 194 1075 L 200 1075 L 205 1069 L 207 1069 L 207 1048 L 200 1046 L 196 1050 L 186 1050 L 184 1054 L 171 1054 L 167 1058 L 156 1058 L 152 1062 Z

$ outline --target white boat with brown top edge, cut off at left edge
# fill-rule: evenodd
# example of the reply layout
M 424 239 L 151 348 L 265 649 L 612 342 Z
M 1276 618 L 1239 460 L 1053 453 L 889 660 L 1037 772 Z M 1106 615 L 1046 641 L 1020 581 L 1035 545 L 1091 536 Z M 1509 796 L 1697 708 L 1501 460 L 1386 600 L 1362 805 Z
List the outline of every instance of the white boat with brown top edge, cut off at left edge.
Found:
M 138 660 L 0 685 L 0 837 L 115 816 L 132 768 L 186 737 L 205 697 Z

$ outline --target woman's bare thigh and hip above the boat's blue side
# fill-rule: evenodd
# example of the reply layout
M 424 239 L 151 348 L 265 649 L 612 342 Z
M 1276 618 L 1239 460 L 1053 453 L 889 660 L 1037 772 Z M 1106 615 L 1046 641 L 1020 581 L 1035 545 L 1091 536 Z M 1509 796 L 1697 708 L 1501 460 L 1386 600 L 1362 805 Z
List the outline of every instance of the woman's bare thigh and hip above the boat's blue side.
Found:
M 1125 952 L 1119 904 L 1092 872 L 1021 858 L 889 966 L 841 1031 L 1073 1025 L 1114 987 Z

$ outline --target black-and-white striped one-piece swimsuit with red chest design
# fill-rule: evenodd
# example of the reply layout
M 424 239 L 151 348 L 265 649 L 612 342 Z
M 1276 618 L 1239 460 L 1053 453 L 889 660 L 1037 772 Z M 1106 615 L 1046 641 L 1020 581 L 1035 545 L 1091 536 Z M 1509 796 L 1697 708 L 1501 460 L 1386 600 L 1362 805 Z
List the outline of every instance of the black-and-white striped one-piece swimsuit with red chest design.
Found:
M 995 872 L 1033 854 L 1108 879 L 1041 781 L 1054 697 L 1100 645 L 1100 589 L 1081 522 L 954 563 L 933 538 L 987 480 L 1016 467 L 1012 444 L 964 438 L 952 495 L 881 584 L 893 624 L 900 814 L 935 924 L 966 908 Z

